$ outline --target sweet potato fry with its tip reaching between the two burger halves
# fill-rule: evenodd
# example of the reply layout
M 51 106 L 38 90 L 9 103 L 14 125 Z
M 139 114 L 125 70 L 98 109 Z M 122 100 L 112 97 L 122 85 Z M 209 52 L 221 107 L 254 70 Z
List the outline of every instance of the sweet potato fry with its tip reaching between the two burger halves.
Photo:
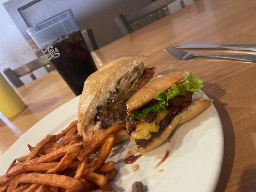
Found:
M 122 129 L 125 129 L 124 123 L 118 123 L 113 126 L 111 126 L 108 129 L 105 129 L 102 132 L 99 132 L 98 134 L 94 135 L 90 141 L 85 144 L 85 147 L 81 151 L 81 153 L 78 156 L 78 159 L 82 161 L 86 156 L 89 156 L 90 154 L 94 153 L 94 151 L 97 149 L 97 147 L 109 136 L 116 132 L 121 131 Z

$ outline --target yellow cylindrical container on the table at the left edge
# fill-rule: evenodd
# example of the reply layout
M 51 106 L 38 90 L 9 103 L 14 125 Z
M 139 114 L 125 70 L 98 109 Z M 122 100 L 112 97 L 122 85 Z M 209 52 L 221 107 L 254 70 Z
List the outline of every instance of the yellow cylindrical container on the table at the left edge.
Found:
M 5 117 L 11 118 L 19 114 L 25 107 L 23 100 L 0 73 L 0 111 Z

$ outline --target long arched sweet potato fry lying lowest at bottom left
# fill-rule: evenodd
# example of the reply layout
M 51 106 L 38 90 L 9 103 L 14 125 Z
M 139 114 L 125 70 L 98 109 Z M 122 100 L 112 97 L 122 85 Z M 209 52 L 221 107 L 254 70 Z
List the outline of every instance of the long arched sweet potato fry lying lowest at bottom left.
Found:
M 40 183 L 69 189 L 72 192 L 85 191 L 85 184 L 68 176 L 58 174 L 27 173 L 16 176 L 10 183 L 7 192 L 13 192 L 19 183 Z

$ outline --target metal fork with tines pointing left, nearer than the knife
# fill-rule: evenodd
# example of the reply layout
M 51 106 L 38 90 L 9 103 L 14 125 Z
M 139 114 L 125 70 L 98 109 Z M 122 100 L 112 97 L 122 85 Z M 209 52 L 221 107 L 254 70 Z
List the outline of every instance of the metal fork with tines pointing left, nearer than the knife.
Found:
M 188 53 L 181 49 L 174 48 L 172 46 L 164 48 L 164 50 L 179 60 L 187 60 L 193 57 L 210 57 L 210 58 L 256 62 L 256 55 L 249 55 L 249 54 L 246 54 L 246 55 L 245 54 L 244 55 L 197 54 L 197 53 Z

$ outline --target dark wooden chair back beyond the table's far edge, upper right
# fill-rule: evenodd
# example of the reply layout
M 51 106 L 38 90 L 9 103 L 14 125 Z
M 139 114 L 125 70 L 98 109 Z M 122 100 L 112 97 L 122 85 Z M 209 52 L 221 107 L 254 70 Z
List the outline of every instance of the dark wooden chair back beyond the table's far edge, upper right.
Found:
M 177 2 L 175 2 L 177 1 Z M 119 14 L 114 18 L 114 21 L 118 25 L 124 36 L 133 33 L 134 30 L 131 27 L 131 24 L 135 24 L 138 28 L 140 24 L 138 20 L 151 16 L 152 13 L 156 12 L 158 15 L 158 19 L 170 14 L 170 10 L 172 9 L 172 4 L 177 7 L 177 3 L 180 4 L 180 9 L 184 8 L 186 5 L 191 4 L 190 1 L 195 2 L 196 0 L 156 0 L 146 7 L 137 10 L 129 15 L 124 16 L 123 14 Z M 175 2 L 175 3 L 174 3 Z M 174 9 L 177 9 L 177 8 Z

